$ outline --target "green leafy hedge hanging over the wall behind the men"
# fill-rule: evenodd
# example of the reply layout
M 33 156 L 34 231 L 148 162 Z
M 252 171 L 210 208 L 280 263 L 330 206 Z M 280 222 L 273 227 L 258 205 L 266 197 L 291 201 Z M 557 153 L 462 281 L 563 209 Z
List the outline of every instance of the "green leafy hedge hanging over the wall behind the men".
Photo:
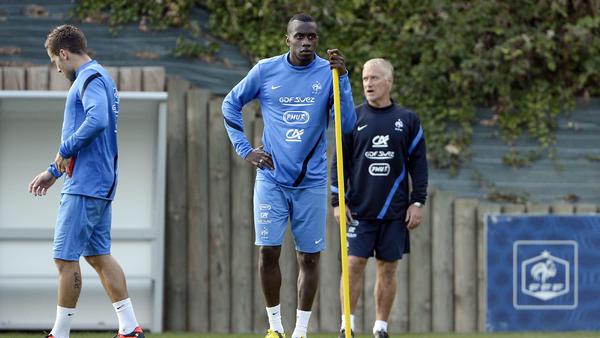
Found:
M 85 3 L 113 3 L 85 0 Z M 125 1 L 116 1 L 116 3 Z M 186 17 L 190 0 L 176 3 Z M 394 98 L 422 119 L 429 155 L 456 169 L 469 155 L 475 107 L 491 107 L 501 137 L 528 134 L 550 155 L 555 117 L 575 96 L 600 92 L 600 1 L 202 0 L 210 29 L 255 60 L 286 51 L 295 13 L 319 23 L 320 54 L 339 48 L 362 100 L 361 67 L 384 57 L 395 67 Z M 90 7 L 90 6 L 88 6 Z M 100 6 L 102 7 L 102 6 Z M 113 9 L 123 10 L 123 6 Z M 161 16 L 150 21 L 160 21 Z M 121 20 L 122 21 L 122 20 Z

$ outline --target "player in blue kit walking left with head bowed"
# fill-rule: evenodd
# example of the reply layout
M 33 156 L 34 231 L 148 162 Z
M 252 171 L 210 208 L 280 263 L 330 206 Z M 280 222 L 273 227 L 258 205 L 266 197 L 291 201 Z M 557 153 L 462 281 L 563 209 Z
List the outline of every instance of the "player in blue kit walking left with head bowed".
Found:
M 96 270 L 117 318 L 115 338 L 138 337 L 139 326 L 127 293 L 125 274 L 110 254 L 111 202 L 117 186 L 117 118 L 119 95 L 106 70 L 86 53 L 86 38 L 77 27 L 54 28 L 44 47 L 58 72 L 73 81 L 65 104 L 62 142 L 48 170 L 29 183 L 29 192 L 46 195 L 66 174 L 53 256 L 58 268 L 56 321 L 47 338 L 68 338 L 81 292 L 79 258 Z

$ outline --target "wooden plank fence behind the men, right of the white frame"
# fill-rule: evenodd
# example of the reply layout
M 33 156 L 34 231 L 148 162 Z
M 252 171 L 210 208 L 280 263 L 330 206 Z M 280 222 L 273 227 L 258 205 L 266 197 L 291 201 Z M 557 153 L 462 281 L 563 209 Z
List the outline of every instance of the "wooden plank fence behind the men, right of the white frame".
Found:
M 222 97 L 168 79 L 167 229 L 164 327 L 173 331 L 264 332 L 267 318 L 258 280 L 252 191 L 254 170 L 233 151 L 221 113 Z M 253 145 L 262 121 L 244 113 Z M 331 147 L 330 147 L 331 148 Z M 410 255 L 399 265 L 390 323 L 399 332 L 471 332 L 485 328 L 483 217 L 487 213 L 589 214 L 591 204 L 490 204 L 430 192 Z M 328 216 L 328 249 L 310 331 L 336 332 L 340 323 L 339 230 Z M 281 255 L 283 323 L 292 330 L 298 266 L 291 237 Z M 357 331 L 374 322 L 375 265 L 366 269 L 355 313 Z

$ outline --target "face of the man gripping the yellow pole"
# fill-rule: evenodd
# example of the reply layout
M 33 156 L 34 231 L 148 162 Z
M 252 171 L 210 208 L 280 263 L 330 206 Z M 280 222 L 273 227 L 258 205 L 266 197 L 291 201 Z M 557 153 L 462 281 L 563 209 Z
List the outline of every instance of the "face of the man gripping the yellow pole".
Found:
M 314 59 L 318 40 L 315 22 L 294 20 L 289 24 L 285 41 L 293 61 L 309 64 Z

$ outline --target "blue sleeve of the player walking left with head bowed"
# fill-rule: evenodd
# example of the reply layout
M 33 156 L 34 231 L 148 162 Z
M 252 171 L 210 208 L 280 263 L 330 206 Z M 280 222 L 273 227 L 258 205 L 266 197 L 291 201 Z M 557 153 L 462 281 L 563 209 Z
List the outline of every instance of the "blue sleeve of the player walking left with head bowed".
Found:
M 73 157 L 108 126 L 107 100 L 102 80 L 92 80 L 81 98 L 85 120 L 73 135 L 62 142 L 59 149 L 60 156 L 63 158 Z

